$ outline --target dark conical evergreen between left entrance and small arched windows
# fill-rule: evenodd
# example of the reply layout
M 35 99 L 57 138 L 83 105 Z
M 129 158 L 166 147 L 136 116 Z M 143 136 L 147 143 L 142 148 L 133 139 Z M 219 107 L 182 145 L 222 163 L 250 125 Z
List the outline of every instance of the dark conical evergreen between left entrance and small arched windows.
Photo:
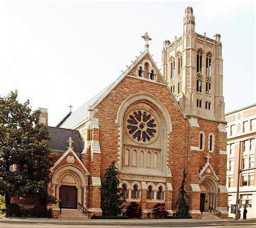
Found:
M 102 184 L 102 211 L 104 216 L 117 216 L 122 210 L 125 201 L 121 190 L 118 188 L 120 181 L 117 178 L 119 170 L 114 162 L 105 170 Z

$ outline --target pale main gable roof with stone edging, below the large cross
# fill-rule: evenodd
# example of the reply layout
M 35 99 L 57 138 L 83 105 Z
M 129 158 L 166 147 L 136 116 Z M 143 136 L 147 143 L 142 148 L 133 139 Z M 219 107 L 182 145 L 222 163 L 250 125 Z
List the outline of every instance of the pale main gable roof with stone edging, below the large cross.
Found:
M 82 106 L 80 106 L 80 108 L 78 108 L 77 110 L 75 110 L 66 120 L 63 124 L 60 125 L 60 127 L 64 127 L 67 129 L 72 129 L 75 126 L 77 126 L 78 124 L 82 123 L 89 115 L 89 110 L 93 110 L 96 108 L 96 106 L 103 101 L 103 99 L 109 95 L 109 93 L 124 79 L 124 77 L 129 74 L 129 72 L 139 63 L 140 60 L 142 60 L 144 58 L 144 56 L 146 54 L 149 54 L 151 61 L 153 62 L 154 67 L 156 67 L 156 70 L 159 74 L 159 76 L 161 77 L 161 79 L 163 80 L 163 82 L 166 84 L 166 87 L 169 89 L 170 88 L 167 86 L 167 83 L 164 80 L 164 77 L 161 75 L 160 70 L 158 69 L 156 62 L 154 62 L 151 54 L 149 53 L 148 49 L 145 49 L 144 52 L 141 52 L 140 55 L 137 57 L 137 59 L 135 61 L 132 61 L 132 64 L 127 67 L 127 69 L 125 70 L 125 72 L 123 72 L 122 75 L 120 75 L 118 77 L 118 79 L 116 81 L 114 81 L 113 83 L 111 83 L 108 87 L 106 87 L 104 90 L 100 91 L 95 97 L 92 97 L 89 101 L 87 101 L 85 104 L 83 104 Z M 170 91 L 170 95 L 173 97 L 174 101 L 176 101 L 176 99 L 174 98 L 172 92 Z M 177 102 L 177 101 L 176 101 Z M 180 110 L 181 113 L 183 113 L 183 111 L 181 111 L 180 106 L 178 105 L 178 108 Z

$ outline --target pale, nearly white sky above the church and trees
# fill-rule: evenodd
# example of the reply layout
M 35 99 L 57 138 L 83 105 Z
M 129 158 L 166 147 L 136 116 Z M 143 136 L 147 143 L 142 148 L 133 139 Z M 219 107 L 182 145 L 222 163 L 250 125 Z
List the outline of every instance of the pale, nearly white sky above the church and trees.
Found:
M 183 32 L 192 6 L 196 32 L 221 35 L 225 112 L 256 103 L 255 3 L 235 1 L 0 1 L 0 96 L 47 108 L 49 125 L 116 80 L 144 51 L 161 68 L 163 41 Z

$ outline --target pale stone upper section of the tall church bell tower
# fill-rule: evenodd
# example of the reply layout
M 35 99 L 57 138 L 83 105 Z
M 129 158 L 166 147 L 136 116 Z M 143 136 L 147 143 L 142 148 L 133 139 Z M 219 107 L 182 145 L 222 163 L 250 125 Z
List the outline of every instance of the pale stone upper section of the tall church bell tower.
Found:
M 192 7 L 185 10 L 183 35 L 164 41 L 163 74 L 188 117 L 225 121 L 220 35 L 195 32 Z

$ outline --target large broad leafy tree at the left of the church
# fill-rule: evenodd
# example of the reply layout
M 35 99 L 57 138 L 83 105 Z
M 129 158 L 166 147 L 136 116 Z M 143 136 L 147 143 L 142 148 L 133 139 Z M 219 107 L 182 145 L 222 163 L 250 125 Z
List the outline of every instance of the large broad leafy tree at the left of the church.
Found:
M 49 200 L 50 133 L 39 124 L 40 111 L 29 101 L 18 102 L 18 92 L 0 97 L 0 187 L 6 208 L 12 197 Z

